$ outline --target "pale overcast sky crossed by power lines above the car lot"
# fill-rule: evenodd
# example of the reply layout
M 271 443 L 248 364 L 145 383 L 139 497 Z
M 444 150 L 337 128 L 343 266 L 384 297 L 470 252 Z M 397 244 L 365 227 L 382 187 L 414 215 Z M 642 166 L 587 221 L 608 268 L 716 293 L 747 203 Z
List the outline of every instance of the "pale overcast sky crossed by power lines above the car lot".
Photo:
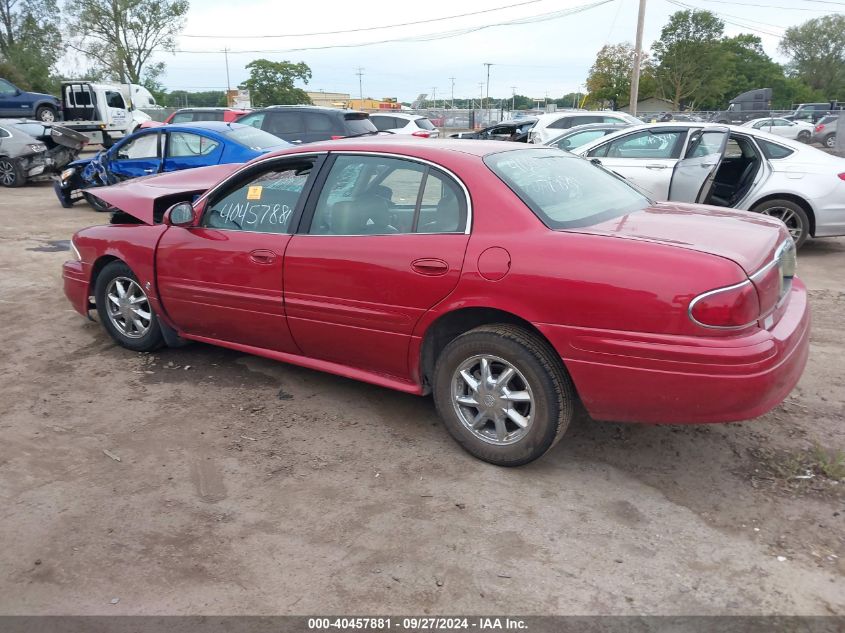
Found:
M 490 11 L 517 3 L 521 6 Z M 783 61 L 777 46 L 778 35 L 785 28 L 829 13 L 831 9 L 845 12 L 845 2 L 828 0 L 682 0 L 682 3 L 717 13 L 726 22 L 728 35 L 741 32 L 759 35 L 766 52 L 777 61 Z M 231 51 L 232 88 L 246 79 L 244 66 L 250 60 L 264 57 L 308 64 L 313 77 L 305 87 L 307 90 L 348 92 L 357 96 L 356 72 L 362 67 L 364 96 L 411 101 L 420 93 L 427 93 L 431 98 L 435 87 L 438 100 L 448 98 L 451 77 L 454 77 L 456 97 L 479 95 L 482 91 L 479 84 L 486 79 L 485 62 L 493 64 L 491 97 L 510 95 L 512 86 L 518 94 L 532 98 L 583 90 L 587 72 L 603 45 L 633 42 L 638 0 L 193 0 L 191 4 L 183 36 L 179 38 L 180 52 L 159 56 L 167 64 L 164 84 L 168 89 L 225 89 L 226 66 L 219 51 L 227 47 Z M 673 0 L 648 0 L 643 39 L 646 48 L 658 38 L 668 16 L 682 8 Z M 579 9 L 585 10 L 564 13 Z M 262 37 L 372 29 L 478 11 L 487 12 L 357 33 Z M 545 18 L 539 17 L 550 13 Z M 431 41 L 339 47 L 442 35 L 535 16 L 540 21 L 491 26 Z M 290 50 L 306 47 L 334 48 Z

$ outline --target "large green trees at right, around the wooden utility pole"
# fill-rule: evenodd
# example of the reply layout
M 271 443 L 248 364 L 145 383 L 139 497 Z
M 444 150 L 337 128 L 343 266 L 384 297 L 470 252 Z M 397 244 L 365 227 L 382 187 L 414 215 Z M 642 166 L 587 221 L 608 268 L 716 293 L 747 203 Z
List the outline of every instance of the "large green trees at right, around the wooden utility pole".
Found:
M 778 64 L 756 35 L 724 34 L 725 24 L 710 11 L 677 11 L 641 60 L 640 99 L 660 97 L 672 109 L 721 110 L 736 95 L 772 89 L 772 108 L 845 97 L 845 15 L 814 18 L 786 30 Z M 587 78 L 592 104 L 628 105 L 634 48 L 602 47 Z

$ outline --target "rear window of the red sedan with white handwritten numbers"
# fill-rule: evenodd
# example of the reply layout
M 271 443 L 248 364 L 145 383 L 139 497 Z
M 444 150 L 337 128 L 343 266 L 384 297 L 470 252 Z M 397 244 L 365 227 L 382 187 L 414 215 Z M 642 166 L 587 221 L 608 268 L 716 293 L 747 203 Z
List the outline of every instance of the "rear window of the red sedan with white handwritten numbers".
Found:
M 621 178 L 558 149 L 512 150 L 484 162 L 552 229 L 590 226 L 651 204 Z

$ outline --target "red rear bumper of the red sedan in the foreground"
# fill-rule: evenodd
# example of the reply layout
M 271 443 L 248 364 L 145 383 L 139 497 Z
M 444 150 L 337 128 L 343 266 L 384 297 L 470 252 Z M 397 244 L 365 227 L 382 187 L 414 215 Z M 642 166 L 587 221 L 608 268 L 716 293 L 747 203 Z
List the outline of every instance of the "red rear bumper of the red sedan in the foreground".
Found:
M 688 337 L 538 325 L 590 415 L 618 422 L 748 420 L 780 404 L 807 363 L 810 312 L 800 280 L 771 330 Z

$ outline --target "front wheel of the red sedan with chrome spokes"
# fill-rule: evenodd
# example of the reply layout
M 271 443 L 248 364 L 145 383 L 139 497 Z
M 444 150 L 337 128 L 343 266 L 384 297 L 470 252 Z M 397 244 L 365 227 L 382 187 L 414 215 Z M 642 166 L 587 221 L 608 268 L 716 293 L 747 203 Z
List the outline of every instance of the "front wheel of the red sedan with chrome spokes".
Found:
M 103 268 L 94 297 L 100 322 L 117 343 L 136 352 L 162 346 L 158 317 L 135 273 L 124 262 L 113 261 Z

